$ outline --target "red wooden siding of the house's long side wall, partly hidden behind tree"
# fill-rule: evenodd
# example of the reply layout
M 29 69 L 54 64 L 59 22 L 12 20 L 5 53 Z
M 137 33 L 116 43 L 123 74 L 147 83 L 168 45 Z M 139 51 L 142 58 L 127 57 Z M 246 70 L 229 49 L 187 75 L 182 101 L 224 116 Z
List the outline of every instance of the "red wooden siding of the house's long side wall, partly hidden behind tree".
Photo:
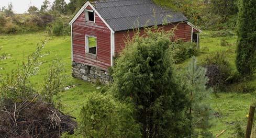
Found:
M 174 26 L 177 26 L 177 30 L 175 30 L 175 38 L 183 39 L 186 42 L 191 41 L 191 26 L 187 25 L 185 22 L 181 22 L 180 24 L 169 24 L 166 26 L 160 26 L 164 30 L 171 30 Z M 141 33 L 143 33 L 143 28 L 140 29 Z M 125 48 L 125 40 L 129 36 L 132 38 L 134 35 L 133 30 L 125 30 L 115 32 L 115 56 L 119 55 L 120 52 Z

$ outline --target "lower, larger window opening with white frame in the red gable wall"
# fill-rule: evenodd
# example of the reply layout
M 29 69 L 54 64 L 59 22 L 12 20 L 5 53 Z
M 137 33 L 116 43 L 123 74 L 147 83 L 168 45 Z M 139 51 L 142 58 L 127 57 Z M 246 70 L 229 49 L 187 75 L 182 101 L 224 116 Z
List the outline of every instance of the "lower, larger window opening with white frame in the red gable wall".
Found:
M 96 37 L 86 37 L 86 53 L 97 53 L 97 39 Z

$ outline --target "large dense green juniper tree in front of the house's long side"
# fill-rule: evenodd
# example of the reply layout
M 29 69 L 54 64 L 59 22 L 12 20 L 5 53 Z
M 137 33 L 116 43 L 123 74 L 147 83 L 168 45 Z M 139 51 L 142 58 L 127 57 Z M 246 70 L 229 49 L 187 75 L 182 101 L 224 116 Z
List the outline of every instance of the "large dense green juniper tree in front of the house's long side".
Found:
M 142 137 L 191 134 L 188 89 L 175 74 L 170 45 L 173 31 L 145 28 L 128 41 L 113 67 L 113 94 L 135 106 Z

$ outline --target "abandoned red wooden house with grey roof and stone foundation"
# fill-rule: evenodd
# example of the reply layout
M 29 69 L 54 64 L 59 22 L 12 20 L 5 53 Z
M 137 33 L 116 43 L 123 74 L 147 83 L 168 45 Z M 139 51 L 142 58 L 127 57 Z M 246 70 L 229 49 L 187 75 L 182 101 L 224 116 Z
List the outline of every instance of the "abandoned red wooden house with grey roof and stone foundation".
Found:
M 170 24 L 164 25 L 166 20 Z M 151 0 L 99 0 L 86 2 L 70 21 L 72 32 L 72 75 L 88 82 L 107 83 L 107 70 L 125 48 L 132 29 L 155 24 L 164 30 L 177 26 L 175 38 L 199 44 L 201 30 L 179 12 L 155 5 Z

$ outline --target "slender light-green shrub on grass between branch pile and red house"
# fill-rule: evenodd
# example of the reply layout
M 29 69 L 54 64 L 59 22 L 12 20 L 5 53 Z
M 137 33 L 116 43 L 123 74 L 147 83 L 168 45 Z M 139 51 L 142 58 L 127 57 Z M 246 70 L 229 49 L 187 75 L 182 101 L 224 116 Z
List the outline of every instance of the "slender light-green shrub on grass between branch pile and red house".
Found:
M 63 90 L 64 75 L 62 75 L 63 68 L 59 59 L 53 61 L 48 73 L 43 79 L 43 86 L 41 95 L 44 101 L 53 103 L 53 97 L 57 96 Z

